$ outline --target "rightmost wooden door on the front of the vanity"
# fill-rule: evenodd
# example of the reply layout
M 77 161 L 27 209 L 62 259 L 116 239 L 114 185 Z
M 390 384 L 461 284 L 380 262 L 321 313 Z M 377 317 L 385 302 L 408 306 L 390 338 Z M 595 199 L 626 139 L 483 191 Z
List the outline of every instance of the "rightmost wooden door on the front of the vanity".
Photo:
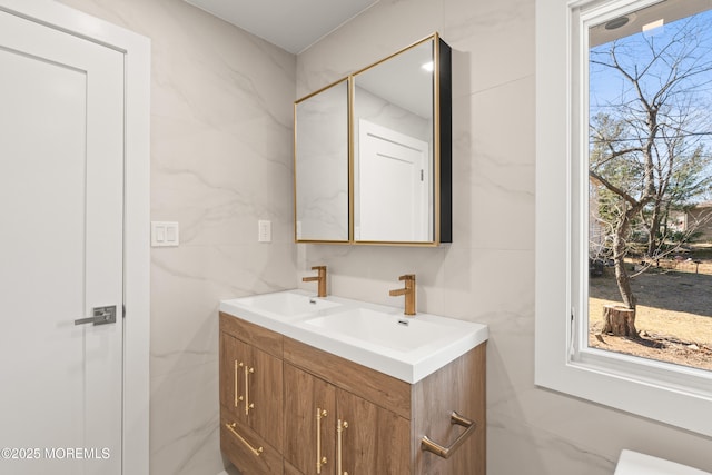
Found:
M 340 435 L 338 475 L 403 475 L 411 473 L 411 424 L 366 399 L 336 390 L 338 419 L 347 424 Z M 339 439 L 337 436 L 337 466 Z

